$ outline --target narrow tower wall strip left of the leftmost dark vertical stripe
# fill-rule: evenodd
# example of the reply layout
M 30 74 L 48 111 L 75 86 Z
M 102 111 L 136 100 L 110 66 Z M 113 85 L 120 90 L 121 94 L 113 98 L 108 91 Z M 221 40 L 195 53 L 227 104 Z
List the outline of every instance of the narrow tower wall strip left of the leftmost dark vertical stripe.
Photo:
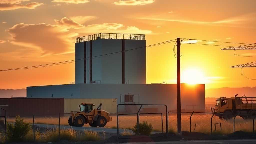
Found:
M 84 42 L 75 44 L 75 59 L 84 58 Z M 78 60 L 75 64 L 76 84 L 84 83 L 84 60 Z

